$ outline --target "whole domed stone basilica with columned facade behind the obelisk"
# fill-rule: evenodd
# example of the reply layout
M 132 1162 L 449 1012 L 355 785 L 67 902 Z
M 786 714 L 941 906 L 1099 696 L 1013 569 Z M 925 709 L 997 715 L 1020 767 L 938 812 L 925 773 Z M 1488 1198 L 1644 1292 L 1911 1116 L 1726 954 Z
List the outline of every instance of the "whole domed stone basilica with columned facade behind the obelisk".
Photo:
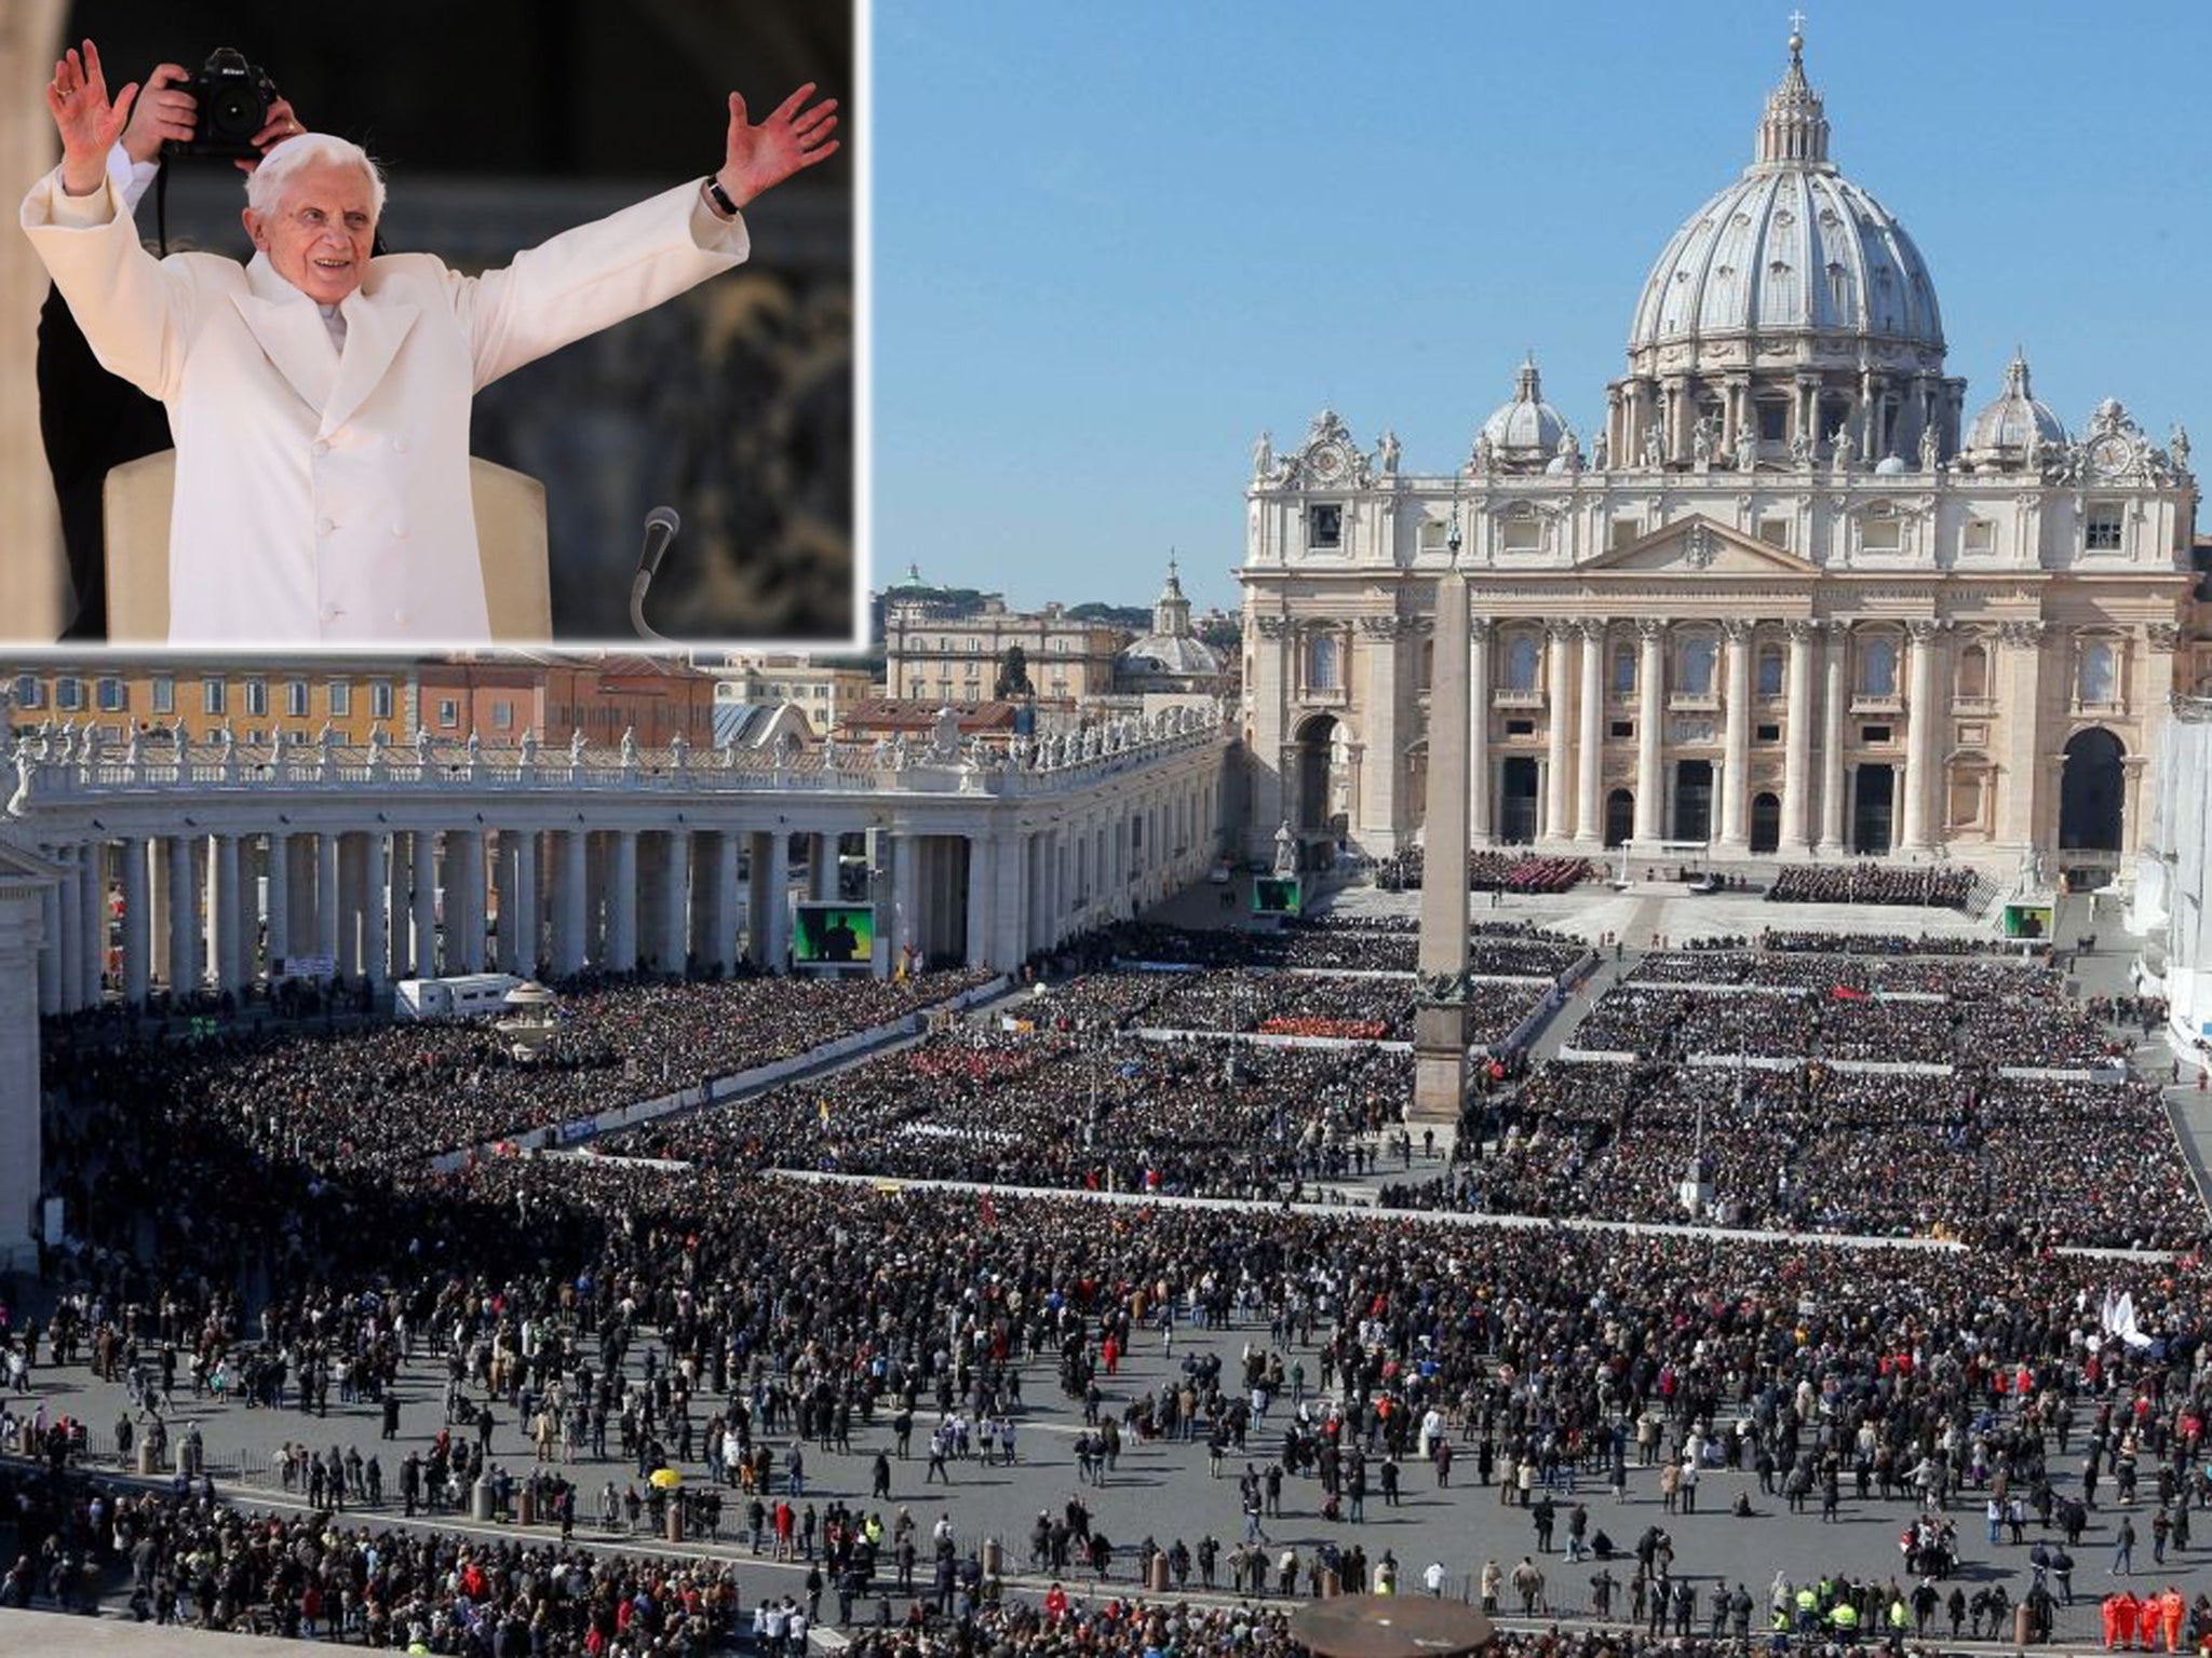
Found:
M 1447 475 L 1334 411 L 1245 491 L 1250 851 L 1413 844 L 1436 577 L 1469 573 L 1473 844 L 2119 867 L 2185 632 L 2188 436 L 1947 369 L 1927 263 L 1829 159 L 1803 40 L 1668 241 L 1588 438 L 1535 363 Z

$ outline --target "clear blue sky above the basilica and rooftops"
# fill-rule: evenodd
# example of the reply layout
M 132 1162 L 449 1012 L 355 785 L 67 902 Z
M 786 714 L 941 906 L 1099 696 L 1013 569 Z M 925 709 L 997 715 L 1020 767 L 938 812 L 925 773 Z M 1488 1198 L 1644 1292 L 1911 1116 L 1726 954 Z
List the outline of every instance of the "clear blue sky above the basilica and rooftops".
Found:
M 1832 155 L 1913 234 L 1969 409 L 2212 440 L 2212 7 L 1807 4 Z M 883 0 L 876 581 L 1237 604 L 1252 440 L 1444 471 L 1535 349 L 1590 431 L 1790 4 Z

